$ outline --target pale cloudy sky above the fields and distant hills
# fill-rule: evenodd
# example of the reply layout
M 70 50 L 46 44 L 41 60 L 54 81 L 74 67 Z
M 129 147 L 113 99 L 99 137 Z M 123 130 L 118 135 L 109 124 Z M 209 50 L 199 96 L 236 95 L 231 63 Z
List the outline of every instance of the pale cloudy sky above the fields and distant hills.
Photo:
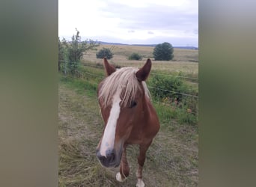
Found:
M 58 35 L 127 44 L 198 46 L 198 0 L 59 0 Z

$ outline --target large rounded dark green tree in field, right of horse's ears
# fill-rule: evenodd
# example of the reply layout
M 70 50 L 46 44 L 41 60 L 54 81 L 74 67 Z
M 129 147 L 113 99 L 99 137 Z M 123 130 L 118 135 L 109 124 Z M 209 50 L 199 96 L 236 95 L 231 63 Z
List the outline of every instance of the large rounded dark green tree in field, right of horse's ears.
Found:
M 156 61 L 170 61 L 174 58 L 174 48 L 171 43 L 160 43 L 153 49 L 153 57 Z

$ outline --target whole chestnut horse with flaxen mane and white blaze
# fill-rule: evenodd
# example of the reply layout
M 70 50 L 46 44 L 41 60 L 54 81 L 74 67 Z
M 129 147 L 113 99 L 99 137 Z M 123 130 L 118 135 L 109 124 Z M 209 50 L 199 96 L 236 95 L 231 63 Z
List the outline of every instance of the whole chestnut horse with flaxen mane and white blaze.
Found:
M 97 157 L 106 168 L 118 167 L 121 163 L 116 179 L 123 182 L 129 176 L 127 145 L 138 144 L 136 186 L 141 187 L 144 186 L 142 167 L 146 151 L 159 131 L 159 120 L 144 82 L 150 73 L 151 61 L 147 59 L 139 70 L 133 67 L 116 70 L 104 58 L 104 67 L 107 77 L 99 84 L 98 99 L 105 129 L 97 146 Z

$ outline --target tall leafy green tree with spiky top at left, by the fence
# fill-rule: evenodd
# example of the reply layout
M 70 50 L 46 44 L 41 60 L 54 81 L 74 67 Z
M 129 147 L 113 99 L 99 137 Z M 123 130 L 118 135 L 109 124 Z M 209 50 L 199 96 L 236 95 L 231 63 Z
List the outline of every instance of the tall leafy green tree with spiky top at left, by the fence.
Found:
M 62 44 L 64 45 L 64 51 L 66 53 L 65 58 L 67 58 L 64 59 L 67 60 L 67 71 L 72 76 L 76 75 L 82 56 L 86 54 L 88 50 L 94 50 L 100 45 L 93 40 L 82 41 L 77 29 L 76 35 L 73 35 L 71 41 L 67 42 L 67 40 L 63 39 Z

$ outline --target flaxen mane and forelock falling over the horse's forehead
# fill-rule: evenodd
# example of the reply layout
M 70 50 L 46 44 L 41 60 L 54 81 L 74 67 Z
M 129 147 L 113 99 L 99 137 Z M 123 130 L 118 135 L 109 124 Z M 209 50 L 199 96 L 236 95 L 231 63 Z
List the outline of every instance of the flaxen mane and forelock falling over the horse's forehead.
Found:
M 123 67 L 103 80 L 103 85 L 99 92 L 99 99 L 103 101 L 104 107 L 112 105 L 112 96 L 114 96 L 117 91 L 121 92 L 121 105 L 127 106 L 128 103 L 132 102 L 137 90 L 141 89 L 138 79 L 135 76 L 137 71 L 138 69 L 134 67 Z M 149 98 L 150 93 L 146 83 L 141 83 L 145 95 Z

